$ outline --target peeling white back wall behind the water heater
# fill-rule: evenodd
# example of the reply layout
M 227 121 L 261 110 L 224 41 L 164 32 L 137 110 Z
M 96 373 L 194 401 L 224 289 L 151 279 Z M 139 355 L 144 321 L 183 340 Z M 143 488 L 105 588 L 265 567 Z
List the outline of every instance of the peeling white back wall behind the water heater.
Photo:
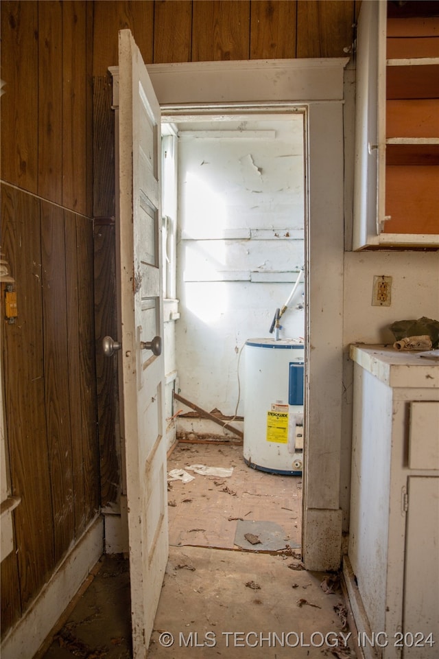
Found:
M 303 115 L 180 124 L 179 136 L 180 392 L 206 411 L 243 415 L 241 349 L 274 336 L 276 308 L 304 264 Z M 281 337 L 304 336 L 302 291 Z

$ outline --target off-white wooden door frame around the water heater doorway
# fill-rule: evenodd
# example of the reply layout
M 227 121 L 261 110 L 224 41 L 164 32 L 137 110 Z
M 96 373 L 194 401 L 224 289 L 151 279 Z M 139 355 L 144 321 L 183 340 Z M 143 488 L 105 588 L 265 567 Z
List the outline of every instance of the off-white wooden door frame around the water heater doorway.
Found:
M 307 108 L 305 471 L 302 554 L 308 570 L 340 567 L 344 135 L 348 58 L 148 65 L 163 118 Z M 312 263 L 312 270 L 309 264 Z M 309 404 L 309 401 L 312 401 Z

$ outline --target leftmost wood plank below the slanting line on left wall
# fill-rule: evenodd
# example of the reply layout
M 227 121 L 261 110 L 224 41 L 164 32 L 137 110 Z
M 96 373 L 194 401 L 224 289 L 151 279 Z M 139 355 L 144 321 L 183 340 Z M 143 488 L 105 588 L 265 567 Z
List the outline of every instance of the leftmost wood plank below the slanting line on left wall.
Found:
M 54 529 L 45 416 L 40 203 L 1 186 L 2 250 L 16 280 L 19 316 L 3 326 L 5 424 L 8 428 L 16 551 L 23 611 L 54 568 Z M 4 321 L 2 321 L 4 322 Z

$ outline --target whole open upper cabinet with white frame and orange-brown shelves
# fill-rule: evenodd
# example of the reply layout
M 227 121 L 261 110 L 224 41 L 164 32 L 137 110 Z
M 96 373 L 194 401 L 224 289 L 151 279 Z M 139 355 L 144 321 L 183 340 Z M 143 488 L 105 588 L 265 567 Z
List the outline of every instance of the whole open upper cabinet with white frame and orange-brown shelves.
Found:
M 361 3 L 353 249 L 439 249 L 439 2 Z

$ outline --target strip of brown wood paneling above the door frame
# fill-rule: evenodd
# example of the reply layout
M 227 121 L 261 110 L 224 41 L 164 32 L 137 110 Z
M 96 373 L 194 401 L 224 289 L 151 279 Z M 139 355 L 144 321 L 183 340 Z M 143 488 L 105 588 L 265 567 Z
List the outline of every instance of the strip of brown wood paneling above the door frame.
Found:
M 95 0 L 93 75 L 117 65 L 130 28 L 145 64 L 345 57 L 358 0 Z

